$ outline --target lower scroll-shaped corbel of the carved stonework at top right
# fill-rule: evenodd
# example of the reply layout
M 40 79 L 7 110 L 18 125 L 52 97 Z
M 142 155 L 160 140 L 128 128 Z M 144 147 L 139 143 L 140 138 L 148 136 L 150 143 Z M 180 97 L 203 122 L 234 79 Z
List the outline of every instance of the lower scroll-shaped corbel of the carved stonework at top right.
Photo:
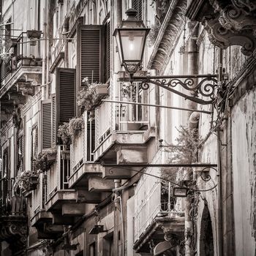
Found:
M 203 25 L 210 41 L 219 48 L 226 49 L 231 45 L 240 45 L 241 52 L 246 56 L 251 55 L 256 48 L 256 40 L 251 30 L 230 31 L 219 23 L 218 18 L 205 19 Z

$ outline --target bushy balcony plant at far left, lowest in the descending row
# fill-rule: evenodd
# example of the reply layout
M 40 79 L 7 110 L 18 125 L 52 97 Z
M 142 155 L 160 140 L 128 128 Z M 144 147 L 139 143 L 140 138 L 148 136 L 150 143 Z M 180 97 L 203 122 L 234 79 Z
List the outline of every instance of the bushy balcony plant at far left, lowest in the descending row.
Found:
M 16 178 L 16 183 L 22 191 L 31 191 L 37 188 L 39 172 L 25 170 Z

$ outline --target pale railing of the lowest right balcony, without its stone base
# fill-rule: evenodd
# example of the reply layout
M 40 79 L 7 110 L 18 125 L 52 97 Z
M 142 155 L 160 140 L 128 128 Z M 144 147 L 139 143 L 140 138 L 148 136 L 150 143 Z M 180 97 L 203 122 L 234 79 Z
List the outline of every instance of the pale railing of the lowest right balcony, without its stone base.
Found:
M 170 189 L 163 193 L 161 181 L 151 176 L 140 179 L 135 188 L 135 202 L 135 241 L 157 217 L 184 217 L 181 201 L 172 200 Z

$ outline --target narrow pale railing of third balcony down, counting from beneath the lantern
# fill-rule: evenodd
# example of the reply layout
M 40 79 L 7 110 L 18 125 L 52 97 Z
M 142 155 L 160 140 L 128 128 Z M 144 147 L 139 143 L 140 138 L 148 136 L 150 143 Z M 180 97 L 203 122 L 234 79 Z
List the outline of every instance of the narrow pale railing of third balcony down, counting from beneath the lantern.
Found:
M 57 191 L 69 189 L 70 157 L 68 157 L 68 152 L 65 145 L 59 145 L 57 148 L 56 164 L 48 171 L 47 200 Z

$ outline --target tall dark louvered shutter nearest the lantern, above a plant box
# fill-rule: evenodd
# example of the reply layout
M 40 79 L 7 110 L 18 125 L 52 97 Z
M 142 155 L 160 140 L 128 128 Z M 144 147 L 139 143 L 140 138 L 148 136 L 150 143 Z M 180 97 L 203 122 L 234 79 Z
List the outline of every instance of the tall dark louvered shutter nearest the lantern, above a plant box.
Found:
M 88 77 L 91 82 L 104 82 L 104 26 L 78 25 L 78 87 Z

